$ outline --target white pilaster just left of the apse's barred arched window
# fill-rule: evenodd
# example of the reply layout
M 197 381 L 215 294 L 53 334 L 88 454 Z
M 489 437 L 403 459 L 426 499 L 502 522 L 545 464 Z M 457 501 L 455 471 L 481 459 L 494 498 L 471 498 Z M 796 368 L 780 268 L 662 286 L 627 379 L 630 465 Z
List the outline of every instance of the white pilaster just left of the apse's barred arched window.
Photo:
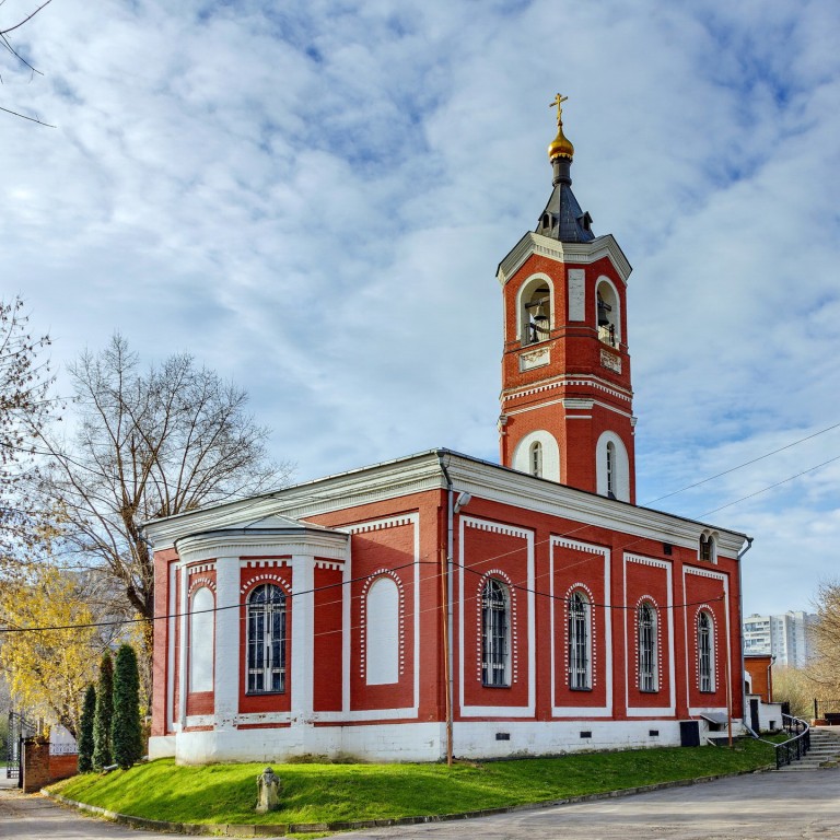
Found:
M 232 730 L 240 710 L 240 558 L 215 563 L 214 713 L 217 730 Z

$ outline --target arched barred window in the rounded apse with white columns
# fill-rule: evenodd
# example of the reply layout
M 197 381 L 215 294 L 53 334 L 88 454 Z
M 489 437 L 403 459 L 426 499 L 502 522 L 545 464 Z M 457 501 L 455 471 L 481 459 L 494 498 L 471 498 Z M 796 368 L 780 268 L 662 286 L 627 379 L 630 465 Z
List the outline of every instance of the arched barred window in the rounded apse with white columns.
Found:
M 248 596 L 248 693 L 285 691 L 285 594 L 264 583 Z

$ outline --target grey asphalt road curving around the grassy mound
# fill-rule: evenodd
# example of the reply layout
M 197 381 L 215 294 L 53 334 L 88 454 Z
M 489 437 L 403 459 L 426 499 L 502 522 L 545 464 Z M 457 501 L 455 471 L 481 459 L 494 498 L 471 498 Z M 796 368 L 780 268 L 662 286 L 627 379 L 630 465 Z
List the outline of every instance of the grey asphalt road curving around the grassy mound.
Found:
M 20 840 L 135 838 L 37 794 L 0 790 L 0 837 Z M 756 773 L 580 805 L 482 819 L 354 831 L 354 840 L 840 840 L 840 769 Z

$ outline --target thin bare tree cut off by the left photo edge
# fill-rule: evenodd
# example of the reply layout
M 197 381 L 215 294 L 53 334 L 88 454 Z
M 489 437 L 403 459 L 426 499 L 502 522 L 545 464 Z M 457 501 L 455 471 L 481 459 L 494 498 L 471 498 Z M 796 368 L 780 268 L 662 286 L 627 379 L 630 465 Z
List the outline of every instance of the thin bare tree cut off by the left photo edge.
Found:
M 23 306 L 20 298 L 0 301 L 0 573 L 20 568 L 46 521 L 27 489 L 34 443 L 50 413 L 51 378 L 38 359 L 49 337 L 32 337 Z

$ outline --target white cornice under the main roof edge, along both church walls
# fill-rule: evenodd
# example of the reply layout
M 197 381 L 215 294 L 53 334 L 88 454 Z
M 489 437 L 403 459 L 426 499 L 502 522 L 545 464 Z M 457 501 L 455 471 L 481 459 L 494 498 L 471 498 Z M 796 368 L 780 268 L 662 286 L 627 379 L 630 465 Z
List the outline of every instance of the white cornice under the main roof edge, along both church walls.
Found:
M 700 522 L 535 478 L 450 450 L 432 450 L 399 460 L 298 485 L 271 495 L 195 511 L 168 520 L 158 520 L 147 526 L 147 533 L 155 550 L 172 547 L 176 539 L 184 540 L 178 546 L 183 550 L 186 547 L 186 538 L 190 535 L 199 538 L 202 532 L 218 532 L 225 526 L 253 522 L 271 514 L 300 520 L 412 493 L 445 490 L 446 479 L 441 470 L 441 458 L 457 490 L 467 490 L 476 498 L 501 504 L 685 548 L 696 548 L 701 532 L 709 527 Z M 719 527 L 716 530 L 719 555 L 736 557 L 744 546 L 745 536 Z M 335 532 L 325 532 L 326 534 Z M 211 535 L 207 536 L 209 538 Z M 230 536 L 235 537 L 233 534 Z M 307 539 L 310 533 L 306 535 Z M 242 536 L 237 539 L 243 541 Z M 252 535 L 244 541 L 253 545 Z

